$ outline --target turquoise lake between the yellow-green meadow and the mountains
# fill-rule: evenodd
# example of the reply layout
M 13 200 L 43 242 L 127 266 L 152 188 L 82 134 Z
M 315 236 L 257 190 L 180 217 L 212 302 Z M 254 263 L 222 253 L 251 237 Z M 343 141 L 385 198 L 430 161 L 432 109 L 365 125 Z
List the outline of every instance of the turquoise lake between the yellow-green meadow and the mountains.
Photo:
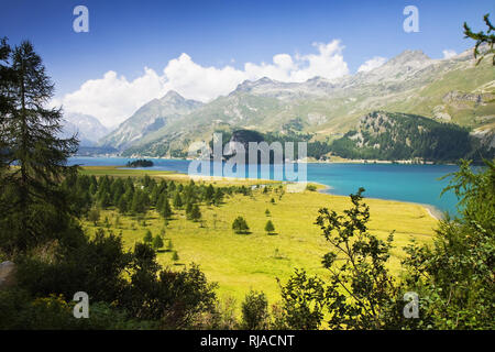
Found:
M 135 158 L 72 157 L 69 164 L 81 166 L 125 165 Z M 187 173 L 189 161 L 151 158 L 153 167 L 146 169 Z M 307 164 L 307 179 L 329 187 L 326 193 L 348 196 L 364 187 L 369 198 L 393 199 L 430 205 L 440 211 L 455 213 L 457 197 L 449 193 L 440 197 L 449 179 L 440 177 L 458 170 L 454 165 L 399 165 L 399 164 Z M 296 165 L 297 170 L 297 165 Z M 232 176 L 227 174 L 224 176 Z M 250 177 L 252 177 L 250 175 Z M 273 178 L 261 172 L 255 178 Z

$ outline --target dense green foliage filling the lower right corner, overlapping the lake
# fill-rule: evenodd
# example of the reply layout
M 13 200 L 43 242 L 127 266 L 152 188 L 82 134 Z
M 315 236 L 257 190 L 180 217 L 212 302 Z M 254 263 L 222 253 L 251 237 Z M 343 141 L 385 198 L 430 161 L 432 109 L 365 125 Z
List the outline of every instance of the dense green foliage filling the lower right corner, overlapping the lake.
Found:
M 460 217 L 442 220 L 432 244 L 410 244 L 406 282 L 419 295 L 418 328 L 495 329 L 495 163 L 462 162 L 444 191 Z

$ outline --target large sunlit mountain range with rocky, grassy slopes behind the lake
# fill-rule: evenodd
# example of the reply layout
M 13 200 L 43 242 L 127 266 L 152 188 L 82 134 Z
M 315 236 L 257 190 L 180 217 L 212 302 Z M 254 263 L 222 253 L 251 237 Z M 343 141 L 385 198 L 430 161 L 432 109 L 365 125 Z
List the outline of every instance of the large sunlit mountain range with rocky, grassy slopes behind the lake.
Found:
M 300 133 L 331 143 L 378 110 L 454 123 L 495 148 L 495 68 L 491 58 L 476 66 L 472 51 L 449 59 L 405 51 L 373 70 L 332 80 L 246 80 L 208 103 L 169 91 L 138 109 L 98 144 L 124 156 L 185 156 L 191 142 L 235 130 Z

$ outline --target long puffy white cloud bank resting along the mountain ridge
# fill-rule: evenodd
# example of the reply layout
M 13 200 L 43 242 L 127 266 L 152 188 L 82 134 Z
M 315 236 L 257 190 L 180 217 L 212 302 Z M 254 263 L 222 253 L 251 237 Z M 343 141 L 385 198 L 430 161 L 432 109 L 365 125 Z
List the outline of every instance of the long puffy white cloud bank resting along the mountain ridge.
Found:
M 232 66 L 205 67 L 183 53 L 170 59 L 160 75 L 145 67 L 141 77 L 128 80 L 116 72 L 103 77 L 87 80 L 74 92 L 53 101 L 63 105 L 68 112 L 79 112 L 97 117 L 111 127 L 129 118 L 147 101 L 176 90 L 185 98 L 210 101 L 228 95 L 245 79 L 268 77 L 280 81 L 305 81 L 315 76 L 328 79 L 349 74 L 340 41 L 314 43 L 317 53 L 308 55 L 277 54 L 270 64 L 244 64 L 243 69 Z

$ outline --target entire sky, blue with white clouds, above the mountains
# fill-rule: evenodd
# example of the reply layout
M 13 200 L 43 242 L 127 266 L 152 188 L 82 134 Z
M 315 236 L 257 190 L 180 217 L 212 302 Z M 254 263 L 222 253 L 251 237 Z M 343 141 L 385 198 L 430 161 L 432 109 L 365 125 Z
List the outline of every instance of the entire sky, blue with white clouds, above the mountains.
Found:
M 75 32 L 74 9 L 89 32 Z M 407 6 L 419 32 L 406 33 Z M 473 45 L 493 0 L 2 0 L 0 36 L 31 41 L 55 82 L 54 105 L 107 127 L 173 89 L 210 101 L 245 79 L 304 81 L 370 70 L 405 50 L 450 57 Z

